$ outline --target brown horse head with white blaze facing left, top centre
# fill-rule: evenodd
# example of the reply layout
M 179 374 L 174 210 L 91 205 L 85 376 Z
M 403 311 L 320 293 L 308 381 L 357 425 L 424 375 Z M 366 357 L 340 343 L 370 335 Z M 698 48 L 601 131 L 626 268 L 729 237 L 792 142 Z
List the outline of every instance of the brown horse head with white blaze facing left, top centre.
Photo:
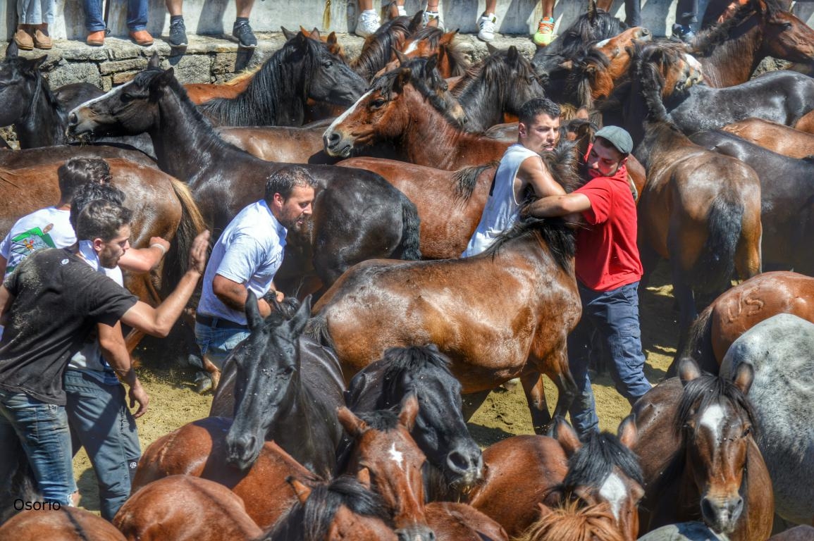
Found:
M 418 94 L 447 120 L 457 124 L 465 118 L 447 82 L 435 69 L 437 59 L 414 59 L 387 72 L 352 107 L 339 116 L 322 136 L 331 156 L 348 157 L 355 146 L 392 141 L 409 129 L 410 117 L 422 114 L 411 107 L 409 96 Z M 413 93 L 413 94 L 411 94 Z

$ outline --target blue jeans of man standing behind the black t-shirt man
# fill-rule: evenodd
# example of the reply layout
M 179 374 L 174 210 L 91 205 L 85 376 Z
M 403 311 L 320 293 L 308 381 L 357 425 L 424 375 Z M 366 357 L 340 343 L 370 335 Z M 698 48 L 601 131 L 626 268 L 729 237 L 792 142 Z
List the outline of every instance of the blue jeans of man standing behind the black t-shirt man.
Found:
M 130 495 L 142 454 L 125 388 L 105 385 L 85 370 L 66 370 L 64 382 L 73 452 L 85 447 L 98 480 L 102 517 L 112 520 Z

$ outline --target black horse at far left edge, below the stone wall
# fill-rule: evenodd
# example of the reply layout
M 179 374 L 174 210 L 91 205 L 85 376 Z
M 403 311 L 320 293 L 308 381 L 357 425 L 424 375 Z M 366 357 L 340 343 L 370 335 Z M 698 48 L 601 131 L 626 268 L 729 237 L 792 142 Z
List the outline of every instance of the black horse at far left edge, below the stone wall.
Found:
M 6 59 L 0 63 L 0 126 L 14 124 L 20 148 L 64 145 L 70 142 L 65 128 L 68 111 L 91 98 L 104 94 L 89 83 L 65 85 L 51 91 L 40 67 L 46 57 L 24 59 L 18 56 L 17 44 L 11 41 Z M 150 138 L 100 137 L 94 143 L 114 142 L 130 145 L 155 156 Z

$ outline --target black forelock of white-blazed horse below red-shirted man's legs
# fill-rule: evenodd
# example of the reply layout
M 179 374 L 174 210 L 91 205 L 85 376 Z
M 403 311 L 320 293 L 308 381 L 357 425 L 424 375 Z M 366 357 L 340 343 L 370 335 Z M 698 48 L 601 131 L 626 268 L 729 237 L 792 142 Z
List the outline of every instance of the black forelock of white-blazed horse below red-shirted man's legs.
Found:
M 578 486 L 602 486 L 614 467 L 644 486 L 645 478 L 636 453 L 620 443 L 614 434 L 592 432 L 568 459 L 568 473 L 562 488 L 569 493 Z

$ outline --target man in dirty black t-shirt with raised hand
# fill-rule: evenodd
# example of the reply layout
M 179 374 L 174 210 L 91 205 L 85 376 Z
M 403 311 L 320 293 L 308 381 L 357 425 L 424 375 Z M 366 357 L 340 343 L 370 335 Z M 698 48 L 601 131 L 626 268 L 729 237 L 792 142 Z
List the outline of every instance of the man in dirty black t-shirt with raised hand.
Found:
M 165 337 L 204 273 L 209 233 L 190 250 L 190 268 L 164 303 L 152 308 L 103 273 L 129 248 L 130 212 L 94 201 L 77 220 L 76 251 L 49 249 L 30 255 L 0 287 L 0 479 L 16 465 L 20 441 L 46 501 L 71 504 L 71 439 L 64 411 L 63 372 L 91 331 L 116 373 L 128 384 L 131 406 L 149 397 L 130 366 L 121 321 Z M 0 506 L 12 502 L 0 501 Z

